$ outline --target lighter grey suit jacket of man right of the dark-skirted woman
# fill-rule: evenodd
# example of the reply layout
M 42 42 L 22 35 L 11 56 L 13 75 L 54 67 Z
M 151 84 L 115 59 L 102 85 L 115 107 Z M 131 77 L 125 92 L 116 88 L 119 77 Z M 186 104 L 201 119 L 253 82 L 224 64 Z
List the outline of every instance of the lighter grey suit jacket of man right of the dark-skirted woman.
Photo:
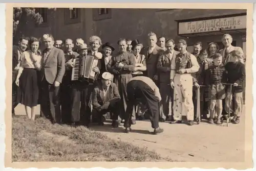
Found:
M 42 69 L 41 69 L 41 81 L 46 78 L 48 83 L 53 84 L 55 81 L 61 83 L 65 74 L 65 55 L 59 48 L 53 47 L 49 57 L 44 64 L 44 54 L 42 53 Z

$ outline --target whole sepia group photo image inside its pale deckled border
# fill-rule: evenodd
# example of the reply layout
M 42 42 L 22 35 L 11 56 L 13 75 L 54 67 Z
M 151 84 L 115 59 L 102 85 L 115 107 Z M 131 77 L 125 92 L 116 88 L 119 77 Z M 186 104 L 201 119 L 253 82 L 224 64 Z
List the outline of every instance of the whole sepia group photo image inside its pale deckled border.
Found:
M 252 160 L 248 6 L 43 7 L 12 8 L 11 162 Z

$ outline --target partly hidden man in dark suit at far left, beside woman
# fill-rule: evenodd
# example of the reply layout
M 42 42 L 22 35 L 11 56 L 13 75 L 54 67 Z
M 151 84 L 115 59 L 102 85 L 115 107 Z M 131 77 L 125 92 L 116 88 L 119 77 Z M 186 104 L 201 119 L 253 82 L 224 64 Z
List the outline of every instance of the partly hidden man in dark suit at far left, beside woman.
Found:
M 18 45 L 12 47 L 12 115 L 15 115 L 15 107 L 18 105 L 17 93 L 20 89 L 15 84 L 16 77 L 18 75 L 18 69 L 21 61 L 21 56 L 24 51 L 27 50 L 29 38 L 21 37 L 19 39 Z

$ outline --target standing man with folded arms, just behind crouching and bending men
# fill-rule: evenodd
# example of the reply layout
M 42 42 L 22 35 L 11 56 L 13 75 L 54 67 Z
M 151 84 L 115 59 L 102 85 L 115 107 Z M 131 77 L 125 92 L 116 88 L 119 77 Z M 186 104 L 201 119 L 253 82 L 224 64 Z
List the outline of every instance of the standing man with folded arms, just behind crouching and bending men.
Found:
M 126 93 L 126 85 L 132 78 L 132 72 L 134 72 L 136 60 L 134 54 L 130 54 L 126 51 L 127 42 L 126 39 L 119 39 L 119 53 L 114 56 L 112 67 L 114 70 L 117 70 L 117 74 L 114 76 L 114 83 L 116 83 L 121 101 L 119 105 L 119 118 L 113 118 L 113 127 L 118 127 L 119 123 L 122 119 L 124 119 L 124 113 L 127 107 L 127 93 Z M 136 124 L 136 115 L 135 110 L 132 112 L 132 124 Z

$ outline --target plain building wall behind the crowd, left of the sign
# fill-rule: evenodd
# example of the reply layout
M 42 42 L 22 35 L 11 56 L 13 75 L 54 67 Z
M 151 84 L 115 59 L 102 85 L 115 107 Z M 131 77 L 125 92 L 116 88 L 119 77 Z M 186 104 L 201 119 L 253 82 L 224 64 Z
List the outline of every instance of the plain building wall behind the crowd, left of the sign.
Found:
M 82 37 L 86 42 L 89 41 L 91 35 L 98 35 L 103 43 L 109 41 L 117 48 L 117 40 L 121 37 L 137 38 L 146 45 L 147 34 L 150 31 L 155 32 L 157 36 L 165 36 L 177 40 L 181 37 L 177 35 L 178 27 L 175 20 L 246 12 L 246 10 L 211 9 L 111 9 L 111 18 L 93 20 L 94 9 L 80 10 L 81 19 L 78 23 L 65 23 L 65 9 L 48 10 L 48 22 L 46 25 L 36 27 L 33 21 L 29 21 L 22 25 L 20 30 L 26 36 L 41 37 L 44 33 L 52 33 L 55 38 L 71 38 L 74 40 L 77 37 Z M 221 36 L 193 37 L 186 40 L 189 45 L 195 41 L 218 41 L 219 37 Z M 242 46 L 240 44 L 237 45 Z

